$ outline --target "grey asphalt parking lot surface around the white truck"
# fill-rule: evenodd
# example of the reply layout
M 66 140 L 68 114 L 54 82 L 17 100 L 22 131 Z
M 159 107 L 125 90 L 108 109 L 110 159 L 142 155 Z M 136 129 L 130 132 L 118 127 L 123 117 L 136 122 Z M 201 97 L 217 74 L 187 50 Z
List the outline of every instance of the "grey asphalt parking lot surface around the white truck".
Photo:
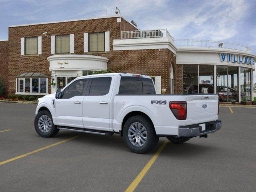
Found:
M 60 131 L 41 138 L 35 108 L 0 103 L 1 192 L 125 191 L 167 141 L 160 138 L 154 151 L 142 155 L 130 152 L 117 134 Z M 168 142 L 134 191 L 255 192 L 256 108 L 232 112 L 220 108 L 222 129 L 208 138 Z

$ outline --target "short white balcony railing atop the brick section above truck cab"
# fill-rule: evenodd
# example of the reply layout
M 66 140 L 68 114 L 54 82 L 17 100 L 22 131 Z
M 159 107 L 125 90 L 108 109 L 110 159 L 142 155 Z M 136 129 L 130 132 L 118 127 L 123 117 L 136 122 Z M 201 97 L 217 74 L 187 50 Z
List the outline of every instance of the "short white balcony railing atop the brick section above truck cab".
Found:
M 137 39 L 137 38 L 157 38 L 166 37 L 168 40 L 174 42 L 174 38 L 170 35 L 167 29 L 156 30 L 137 30 L 137 31 L 122 31 L 122 39 Z

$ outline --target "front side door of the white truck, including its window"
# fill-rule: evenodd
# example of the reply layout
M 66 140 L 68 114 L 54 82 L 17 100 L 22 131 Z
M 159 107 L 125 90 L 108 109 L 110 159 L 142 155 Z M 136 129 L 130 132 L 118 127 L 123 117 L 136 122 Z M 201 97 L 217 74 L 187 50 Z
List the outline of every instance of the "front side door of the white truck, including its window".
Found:
M 62 90 L 62 98 L 56 99 L 56 122 L 60 126 L 83 128 L 83 100 L 87 79 L 74 81 Z

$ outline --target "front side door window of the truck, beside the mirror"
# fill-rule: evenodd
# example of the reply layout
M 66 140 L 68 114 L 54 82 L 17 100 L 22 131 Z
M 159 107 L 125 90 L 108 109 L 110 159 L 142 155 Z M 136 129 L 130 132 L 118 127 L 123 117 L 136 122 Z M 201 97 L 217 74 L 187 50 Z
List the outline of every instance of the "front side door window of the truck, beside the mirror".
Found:
M 74 96 L 82 96 L 84 94 L 87 79 L 80 79 L 70 84 L 63 92 L 63 98 L 69 99 Z

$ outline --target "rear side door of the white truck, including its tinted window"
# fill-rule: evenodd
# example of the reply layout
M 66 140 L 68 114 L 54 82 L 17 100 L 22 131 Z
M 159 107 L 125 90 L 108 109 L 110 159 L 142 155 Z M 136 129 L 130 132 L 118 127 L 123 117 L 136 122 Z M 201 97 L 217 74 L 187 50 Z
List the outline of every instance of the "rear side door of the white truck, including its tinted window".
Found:
M 110 98 L 114 76 L 91 78 L 83 101 L 84 128 L 110 130 Z

